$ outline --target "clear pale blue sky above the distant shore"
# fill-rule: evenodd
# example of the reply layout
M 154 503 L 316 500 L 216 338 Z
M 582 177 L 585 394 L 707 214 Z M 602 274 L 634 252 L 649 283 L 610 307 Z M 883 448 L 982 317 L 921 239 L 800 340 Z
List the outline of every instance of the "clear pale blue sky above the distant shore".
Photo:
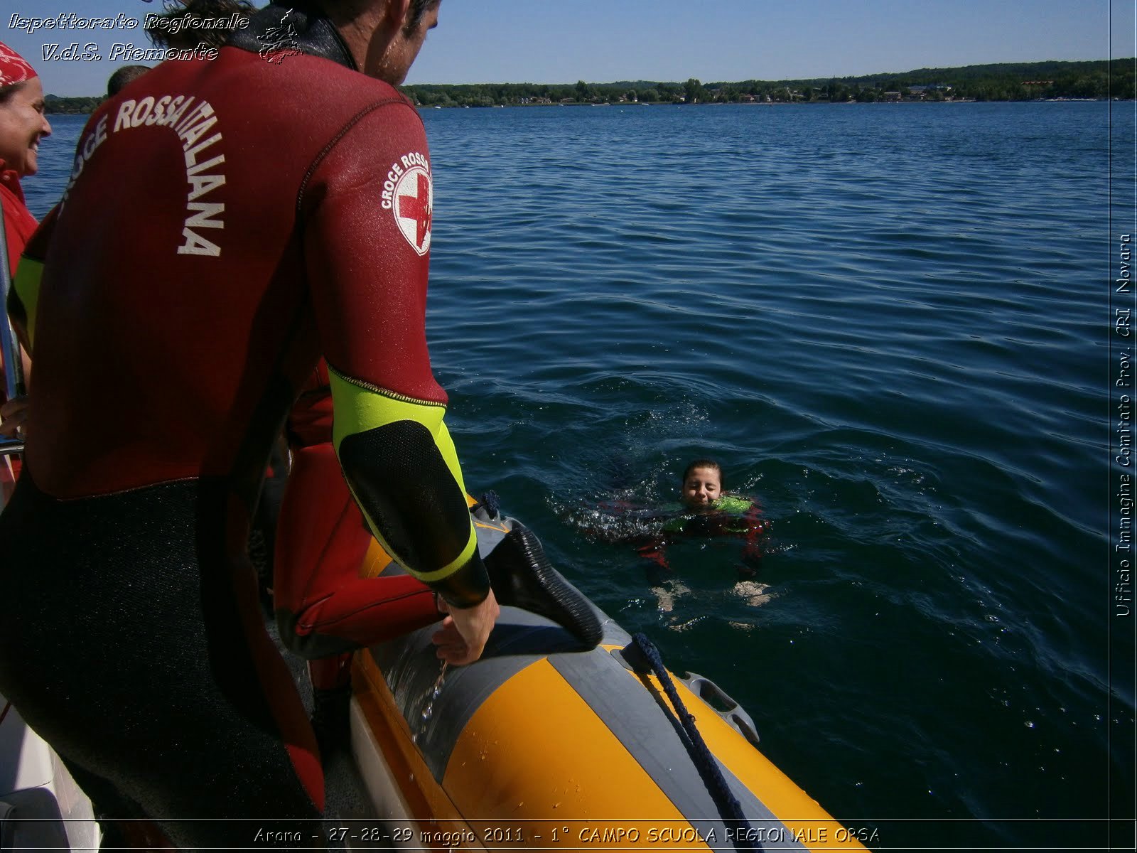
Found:
M 1111 25 L 1110 11 L 1113 19 Z M 99 94 L 122 61 L 115 42 L 141 30 L 28 34 L 11 15 L 141 18 L 161 0 L 8 0 L 0 41 L 39 71 L 44 90 Z M 984 63 L 1135 55 L 1134 0 L 443 0 L 440 25 L 408 83 L 704 83 L 903 72 Z M 101 61 L 42 59 L 44 43 L 96 42 Z

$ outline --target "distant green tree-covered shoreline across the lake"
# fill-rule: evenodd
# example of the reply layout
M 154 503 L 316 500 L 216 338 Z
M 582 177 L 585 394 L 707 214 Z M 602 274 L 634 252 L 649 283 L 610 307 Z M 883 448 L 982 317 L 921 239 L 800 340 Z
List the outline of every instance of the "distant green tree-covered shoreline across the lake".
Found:
M 402 86 L 422 107 L 549 103 L 818 103 L 875 101 L 1030 101 L 1055 98 L 1134 99 L 1134 59 L 1085 63 L 1004 63 L 920 68 L 828 80 L 747 80 L 736 83 L 623 81 L 616 83 L 483 83 Z M 49 113 L 91 113 L 101 97 L 48 96 Z

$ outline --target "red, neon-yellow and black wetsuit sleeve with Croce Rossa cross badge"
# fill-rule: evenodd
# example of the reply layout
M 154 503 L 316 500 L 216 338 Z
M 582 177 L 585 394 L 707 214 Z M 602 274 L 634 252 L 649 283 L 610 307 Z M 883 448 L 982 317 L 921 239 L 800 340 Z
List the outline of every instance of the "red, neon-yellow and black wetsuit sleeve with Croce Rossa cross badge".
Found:
M 422 122 L 392 97 L 325 149 L 299 214 L 345 478 L 388 553 L 470 606 L 489 579 L 426 348 L 432 200 Z

